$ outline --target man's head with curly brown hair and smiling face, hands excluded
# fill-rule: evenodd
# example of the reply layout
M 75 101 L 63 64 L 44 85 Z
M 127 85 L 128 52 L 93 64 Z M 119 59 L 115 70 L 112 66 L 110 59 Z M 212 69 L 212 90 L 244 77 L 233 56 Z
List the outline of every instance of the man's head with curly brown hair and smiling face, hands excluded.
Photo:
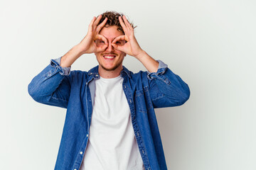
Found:
M 113 71 L 113 72 L 121 72 L 122 70 L 122 62 L 126 53 L 114 49 L 112 46 L 112 42 L 114 38 L 117 38 L 120 35 L 124 35 L 124 30 L 119 23 L 119 16 L 123 16 L 122 13 L 117 13 L 114 11 L 107 11 L 102 13 L 102 18 L 100 19 L 100 23 L 107 18 L 107 23 L 100 30 L 100 35 L 103 35 L 107 39 L 108 47 L 103 52 L 95 52 L 97 57 L 97 61 L 100 65 L 100 70 L 102 71 Z M 132 26 L 133 27 L 133 26 Z M 116 42 L 117 45 L 124 45 L 124 40 L 119 40 Z M 96 42 L 97 46 L 104 45 L 102 40 Z M 100 71 L 99 70 L 99 71 Z

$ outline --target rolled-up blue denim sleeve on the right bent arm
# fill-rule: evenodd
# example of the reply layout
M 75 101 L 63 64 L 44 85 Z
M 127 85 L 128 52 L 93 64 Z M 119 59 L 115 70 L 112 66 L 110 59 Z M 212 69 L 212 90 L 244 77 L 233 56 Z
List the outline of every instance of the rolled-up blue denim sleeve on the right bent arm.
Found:
M 182 105 L 190 96 L 188 84 L 174 74 L 167 64 L 161 60 L 157 60 L 157 62 L 159 62 L 157 72 L 147 73 L 154 108 Z

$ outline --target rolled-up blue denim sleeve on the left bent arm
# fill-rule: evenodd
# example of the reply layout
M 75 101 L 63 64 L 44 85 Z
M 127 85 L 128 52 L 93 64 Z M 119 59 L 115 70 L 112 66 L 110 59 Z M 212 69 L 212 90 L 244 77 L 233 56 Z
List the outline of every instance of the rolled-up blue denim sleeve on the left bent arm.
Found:
M 67 108 L 72 75 L 70 68 L 60 67 L 59 62 L 60 58 L 50 60 L 50 64 L 28 84 L 28 94 L 39 103 Z

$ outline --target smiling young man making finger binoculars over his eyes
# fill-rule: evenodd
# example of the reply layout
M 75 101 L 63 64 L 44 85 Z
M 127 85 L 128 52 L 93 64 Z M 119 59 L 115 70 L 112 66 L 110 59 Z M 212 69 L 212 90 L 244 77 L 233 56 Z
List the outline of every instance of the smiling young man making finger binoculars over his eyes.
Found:
M 71 71 L 83 54 L 99 62 L 89 72 Z M 148 72 L 122 66 L 126 55 Z M 163 62 L 146 54 L 134 26 L 120 13 L 93 18 L 87 35 L 28 85 L 35 101 L 67 108 L 55 169 L 167 169 L 154 108 L 180 106 L 188 85 Z

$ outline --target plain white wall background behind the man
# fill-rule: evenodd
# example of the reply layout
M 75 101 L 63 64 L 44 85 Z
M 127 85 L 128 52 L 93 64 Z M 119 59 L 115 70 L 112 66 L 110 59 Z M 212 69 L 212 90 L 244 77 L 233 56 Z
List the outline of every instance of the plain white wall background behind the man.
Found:
M 156 109 L 171 170 L 256 169 L 254 0 L 0 2 L 0 169 L 53 169 L 65 109 L 36 103 L 31 79 L 87 33 L 93 16 L 126 14 L 152 57 L 191 89 L 176 108 Z M 72 69 L 88 70 L 94 55 Z M 133 57 L 124 65 L 145 70 Z

